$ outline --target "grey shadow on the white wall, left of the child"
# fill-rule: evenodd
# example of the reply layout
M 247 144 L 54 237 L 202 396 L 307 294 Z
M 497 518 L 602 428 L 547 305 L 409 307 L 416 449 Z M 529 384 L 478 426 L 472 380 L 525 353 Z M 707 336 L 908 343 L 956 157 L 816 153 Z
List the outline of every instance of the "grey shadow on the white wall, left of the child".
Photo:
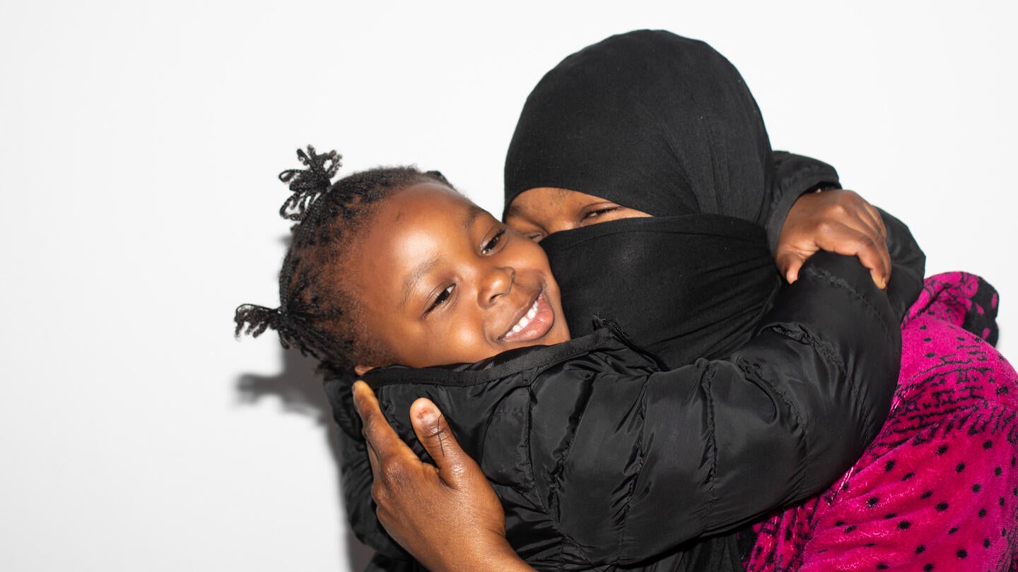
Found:
M 339 428 L 332 419 L 332 408 L 322 389 L 322 378 L 315 373 L 317 361 L 300 355 L 295 350 L 282 350 L 283 370 L 277 376 L 258 376 L 244 374 L 237 378 L 237 396 L 241 403 L 258 403 L 263 397 L 277 397 L 283 404 L 283 409 L 291 413 L 299 413 L 314 418 L 325 432 L 329 442 L 329 450 L 336 462 L 336 475 L 339 478 L 340 453 L 336 432 Z M 336 487 L 340 483 L 337 480 Z M 342 491 L 338 495 L 342 499 Z M 374 553 L 361 545 L 350 530 L 346 522 L 346 511 L 340 510 L 340 528 L 345 531 L 342 557 L 346 558 L 350 570 L 363 570 L 371 562 Z

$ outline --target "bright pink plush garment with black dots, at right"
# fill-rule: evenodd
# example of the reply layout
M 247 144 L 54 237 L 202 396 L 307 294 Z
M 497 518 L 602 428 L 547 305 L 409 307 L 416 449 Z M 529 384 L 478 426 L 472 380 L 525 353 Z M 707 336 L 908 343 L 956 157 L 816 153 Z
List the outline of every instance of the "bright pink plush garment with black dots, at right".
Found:
M 881 433 L 821 497 L 754 527 L 746 570 L 1018 570 L 1018 374 L 984 341 L 997 301 L 971 274 L 926 279 Z

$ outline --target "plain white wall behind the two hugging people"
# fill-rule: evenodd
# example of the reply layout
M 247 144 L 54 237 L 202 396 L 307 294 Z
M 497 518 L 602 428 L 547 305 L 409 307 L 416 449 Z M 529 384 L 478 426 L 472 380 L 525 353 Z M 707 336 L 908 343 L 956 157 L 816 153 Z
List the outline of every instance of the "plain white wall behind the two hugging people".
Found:
M 0 0 L 0 569 L 359 569 L 325 404 L 275 336 L 276 174 L 308 142 L 501 206 L 523 99 L 663 27 L 742 71 L 776 149 L 1002 294 L 1018 359 L 1012 2 Z

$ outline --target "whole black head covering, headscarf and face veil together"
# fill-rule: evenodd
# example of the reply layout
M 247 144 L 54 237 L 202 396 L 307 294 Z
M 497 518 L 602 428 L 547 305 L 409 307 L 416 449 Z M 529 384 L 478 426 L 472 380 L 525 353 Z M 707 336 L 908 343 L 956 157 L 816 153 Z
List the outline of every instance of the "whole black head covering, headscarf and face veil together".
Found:
M 760 221 L 771 145 L 735 67 L 661 31 L 613 36 L 548 72 L 523 107 L 506 206 L 551 186 L 643 211 L 542 244 L 574 336 L 599 314 L 679 366 L 751 334 L 779 278 Z

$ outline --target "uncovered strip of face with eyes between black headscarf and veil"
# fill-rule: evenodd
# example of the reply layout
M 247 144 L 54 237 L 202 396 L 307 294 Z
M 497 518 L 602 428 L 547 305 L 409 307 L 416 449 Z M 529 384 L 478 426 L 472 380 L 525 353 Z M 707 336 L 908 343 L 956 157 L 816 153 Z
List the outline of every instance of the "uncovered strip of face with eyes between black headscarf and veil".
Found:
M 525 190 L 513 199 L 506 209 L 506 224 L 540 242 L 560 230 L 649 216 L 578 190 L 538 187 Z

